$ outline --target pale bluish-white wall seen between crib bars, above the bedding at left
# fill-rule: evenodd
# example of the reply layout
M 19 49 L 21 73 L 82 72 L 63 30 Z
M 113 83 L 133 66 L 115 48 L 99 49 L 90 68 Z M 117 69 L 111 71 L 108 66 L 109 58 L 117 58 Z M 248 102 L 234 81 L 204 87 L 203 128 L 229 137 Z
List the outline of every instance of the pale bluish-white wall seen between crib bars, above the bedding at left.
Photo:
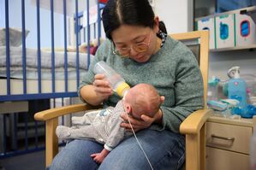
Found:
M 3 10 L 2 10 L 3 9 Z M 26 29 L 29 30 L 26 44 L 29 48 L 37 48 L 37 11 L 30 1 L 25 1 Z M 0 26 L 5 27 L 4 2 L 1 0 Z M 21 0 L 9 1 L 9 27 L 21 28 Z M 63 15 L 54 13 L 54 40 L 56 47 L 64 46 Z M 40 9 L 41 47 L 51 47 L 51 11 Z

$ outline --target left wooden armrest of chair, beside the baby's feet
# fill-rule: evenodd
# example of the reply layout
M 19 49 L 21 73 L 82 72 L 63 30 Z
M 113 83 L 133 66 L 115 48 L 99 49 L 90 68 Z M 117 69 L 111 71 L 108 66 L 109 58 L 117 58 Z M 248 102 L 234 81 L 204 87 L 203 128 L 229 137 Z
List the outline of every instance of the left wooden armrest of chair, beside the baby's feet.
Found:
M 86 111 L 90 109 L 102 108 L 102 105 L 92 106 L 90 104 L 74 104 L 70 106 L 64 106 L 60 108 L 51 108 L 34 114 L 35 120 L 51 120 L 65 114 L 71 114 L 80 111 Z

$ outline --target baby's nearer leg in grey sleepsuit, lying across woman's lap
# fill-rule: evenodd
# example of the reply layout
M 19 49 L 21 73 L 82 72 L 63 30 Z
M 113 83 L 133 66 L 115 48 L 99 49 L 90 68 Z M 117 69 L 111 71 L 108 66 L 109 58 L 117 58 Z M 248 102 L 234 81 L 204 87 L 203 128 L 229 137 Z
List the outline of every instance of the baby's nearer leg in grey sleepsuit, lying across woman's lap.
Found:
M 62 139 L 74 139 L 74 138 L 95 138 L 96 132 L 92 126 L 67 127 L 57 126 L 56 134 L 58 138 Z

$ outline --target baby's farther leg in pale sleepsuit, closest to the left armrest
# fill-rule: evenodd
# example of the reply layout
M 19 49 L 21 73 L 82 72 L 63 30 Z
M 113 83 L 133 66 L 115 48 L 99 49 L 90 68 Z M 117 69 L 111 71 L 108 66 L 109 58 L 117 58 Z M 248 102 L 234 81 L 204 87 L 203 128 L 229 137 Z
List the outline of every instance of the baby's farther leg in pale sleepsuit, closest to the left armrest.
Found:
M 95 116 L 100 112 L 100 110 L 94 110 L 87 112 L 83 116 L 73 116 L 72 124 L 74 126 L 81 126 L 81 125 L 91 125 L 92 120 L 94 120 Z

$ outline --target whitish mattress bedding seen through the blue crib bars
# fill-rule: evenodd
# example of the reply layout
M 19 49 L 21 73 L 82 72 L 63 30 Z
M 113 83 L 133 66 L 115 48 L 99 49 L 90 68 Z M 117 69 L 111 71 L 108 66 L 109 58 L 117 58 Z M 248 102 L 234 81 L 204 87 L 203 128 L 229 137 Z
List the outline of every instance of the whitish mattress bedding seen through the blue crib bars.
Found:
M 0 76 L 6 76 L 6 48 L 0 47 Z M 27 65 L 27 79 L 38 79 L 38 50 L 27 49 L 26 50 L 26 65 Z M 68 52 L 67 54 L 67 66 L 68 66 L 68 79 L 76 79 L 76 53 Z M 10 62 L 10 78 L 23 79 L 23 67 L 22 67 L 22 48 L 10 47 L 9 50 L 9 62 Z M 93 56 L 90 55 L 92 60 Z M 55 52 L 55 74 L 56 79 L 64 79 L 64 52 Z M 51 51 L 41 50 L 41 79 L 51 79 Z M 80 77 L 86 73 L 87 69 L 87 54 L 79 54 L 79 70 Z

